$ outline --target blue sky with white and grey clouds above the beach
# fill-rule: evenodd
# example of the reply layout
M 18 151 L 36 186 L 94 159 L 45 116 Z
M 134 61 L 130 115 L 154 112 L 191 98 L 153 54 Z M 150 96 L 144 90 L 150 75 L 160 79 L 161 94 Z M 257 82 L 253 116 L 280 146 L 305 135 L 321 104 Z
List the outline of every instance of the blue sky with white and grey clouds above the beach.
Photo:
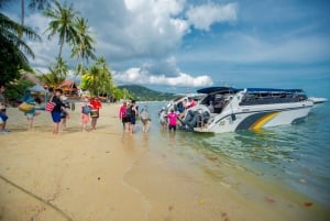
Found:
M 118 85 L 183 92 L 223 85 L 299 87 L 295 82 L 301 78 L 329 80 L 327 0 L 67 2 L 88 19 L 97 55 L 106 57 Z M 19 7 L 4 12 L 20 21 Z M 44 33 L 48 22 L 28 10 L 25 24 L 43 37 L 42 43 L 29 42 L 35 53 L 31 65 L 40 71 L 46 71 L 58 53 L 58 38 L 50 41 Z M 68 58 L 69 48 L 64 51 Z

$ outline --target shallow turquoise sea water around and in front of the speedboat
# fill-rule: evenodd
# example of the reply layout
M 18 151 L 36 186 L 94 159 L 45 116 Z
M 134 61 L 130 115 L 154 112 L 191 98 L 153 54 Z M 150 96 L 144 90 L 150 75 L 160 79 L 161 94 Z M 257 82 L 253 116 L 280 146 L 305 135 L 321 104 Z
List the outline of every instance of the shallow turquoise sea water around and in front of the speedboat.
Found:
M 312 92 L 308 95 L 329 99 L 327 80 L 320 79 L 321 87 L 310 85 L 307 91 Z M 164 102 L 148 103 L 153 119 L 151 142 L 160 144 L 154 151 L 164 145 L 175 146 L 174 154 L 200 167 L 209 166 L 201 157 L 221 159 L 222 165 L 258 175 L 261 180 L 274 180 L 330 207 L 330 102 L 315 107 L 306 121 L 294 125 L 213 135 L 177 132 L 175 136 L 162 132 L 157 123 L 162 106 Z M 221 173 L 217 168 L 212 172 Z

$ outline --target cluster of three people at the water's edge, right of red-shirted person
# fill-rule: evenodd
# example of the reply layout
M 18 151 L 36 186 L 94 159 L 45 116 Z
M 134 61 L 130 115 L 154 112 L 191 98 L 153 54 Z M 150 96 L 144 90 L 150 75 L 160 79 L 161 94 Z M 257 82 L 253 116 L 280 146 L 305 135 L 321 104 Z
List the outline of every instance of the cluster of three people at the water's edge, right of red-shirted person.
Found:
M 139 112 L 139 107 L 136 106 L 135 100 L 132 100 L 131 102 L 124 101 L 119 109 L 119 119 L 123 124 L 123 130 L 125 130 L 130 134 L 133 134 L 138 118 L 141 119 L 141 122 L 143 124 L 143 132 L 148 132 L 151 118 L 147 111 L 147 106 L 144 106 L 141 112 Z

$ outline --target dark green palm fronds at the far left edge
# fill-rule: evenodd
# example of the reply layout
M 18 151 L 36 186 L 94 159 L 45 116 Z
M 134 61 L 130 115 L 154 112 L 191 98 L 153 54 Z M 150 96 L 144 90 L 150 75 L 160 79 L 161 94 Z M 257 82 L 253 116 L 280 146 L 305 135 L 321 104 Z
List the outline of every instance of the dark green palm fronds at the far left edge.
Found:
M 2 0 L 0 7 L 3 5 L 3 2 Z M 32 29 L 0 13 L 0 84 L 7 84 L 18 78 L 19 70 L 29 67 L 28 56 L 34 58 L 34 53 L 23 38 L 41 41 L 41 37 Z

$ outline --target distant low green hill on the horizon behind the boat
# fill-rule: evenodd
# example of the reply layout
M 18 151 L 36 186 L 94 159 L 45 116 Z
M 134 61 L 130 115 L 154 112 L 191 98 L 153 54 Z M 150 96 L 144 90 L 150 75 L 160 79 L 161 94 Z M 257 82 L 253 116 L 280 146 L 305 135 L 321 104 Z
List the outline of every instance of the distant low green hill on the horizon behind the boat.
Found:
M 155 91 L 140 85 L 123 85 L 119 86 L 119 88 L 128 89 L 140 101 L 170 100 L 174 97 L 173 93 Z

